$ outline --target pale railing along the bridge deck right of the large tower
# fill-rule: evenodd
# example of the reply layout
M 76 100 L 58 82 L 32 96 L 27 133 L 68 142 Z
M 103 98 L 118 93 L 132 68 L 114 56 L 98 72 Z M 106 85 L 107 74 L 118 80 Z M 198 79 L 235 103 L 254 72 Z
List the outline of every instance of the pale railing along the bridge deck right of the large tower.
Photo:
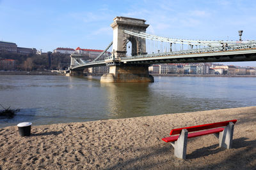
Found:
M 236 51 L 236 50 L 248 50 L 256 48 L 256 42 L 253 41 L 252 43 L 247 44 L 233 44 L 233 45 L 223 45 L 223 46 L 212 46 L 207 48 L 200 48 L 200 49 L 189 49 L 183 50 L 178 52 L 166 52 L 166 53 L 152 53 L 146 55 L 136 55 L 131 57 L 122 57 L 121 59 L 141 59 L 147 57 L 160 57 L 160 56 L 170 56 L 170 55 L 189 55 L 193 53 L 214 53 L 214 52 L 227 52 L 227 51 Z

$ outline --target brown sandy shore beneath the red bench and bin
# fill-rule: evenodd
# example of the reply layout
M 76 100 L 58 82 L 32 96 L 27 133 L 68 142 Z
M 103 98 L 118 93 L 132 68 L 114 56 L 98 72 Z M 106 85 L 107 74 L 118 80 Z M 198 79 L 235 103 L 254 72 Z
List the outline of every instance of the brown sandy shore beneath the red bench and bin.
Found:
M 171 129 L 237 119 L 233 148 L 188 139 L 187 159 L 161 138 Z M 256 106 L 152 117 L 0 129 L 0 169 L 256 169 Z

